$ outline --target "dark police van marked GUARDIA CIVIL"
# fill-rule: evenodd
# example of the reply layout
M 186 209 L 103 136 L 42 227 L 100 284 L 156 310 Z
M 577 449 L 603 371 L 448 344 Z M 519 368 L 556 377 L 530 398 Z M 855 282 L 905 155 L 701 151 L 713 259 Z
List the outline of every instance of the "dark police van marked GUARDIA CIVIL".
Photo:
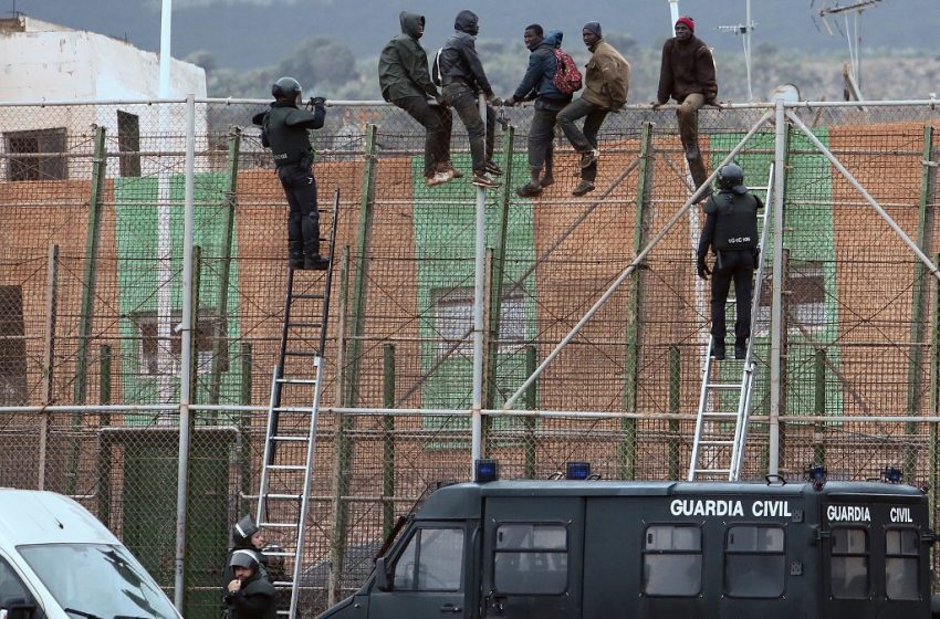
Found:
M 876 482 L 460 483 L 320 618 L 927 619 L 929 522 Z

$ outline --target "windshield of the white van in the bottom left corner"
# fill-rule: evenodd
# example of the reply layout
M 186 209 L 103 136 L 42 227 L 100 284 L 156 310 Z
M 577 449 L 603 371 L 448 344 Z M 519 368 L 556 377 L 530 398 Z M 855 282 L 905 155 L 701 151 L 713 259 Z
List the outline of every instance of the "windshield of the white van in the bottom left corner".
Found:
M 44 544 L 17 549 L 62 608 L 102 619 L 178 619 L 163 590 L 123 546 Z

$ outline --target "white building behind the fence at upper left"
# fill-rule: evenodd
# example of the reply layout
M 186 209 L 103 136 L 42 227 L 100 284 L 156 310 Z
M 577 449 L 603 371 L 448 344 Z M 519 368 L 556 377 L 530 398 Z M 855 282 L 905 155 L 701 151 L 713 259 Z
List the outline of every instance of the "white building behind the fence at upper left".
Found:
M 182 151 L 185 107 L 103 104 L 158 98 L 159 56 L 134 45 L 87 31 L 25 15 L 0 20 L 0 154 L 8 181 L 86 177 L 88 161 L 71 157 L 87 151 L 95 126 L 106 130 L 109 151 L 122 151 L 108 176 L 140 176 L 148 162 L 135 151 Z M 170 98 L 206 97 L 206 72 L 173 60 Z M 28 103 L 51 103 L 42 107 Z M 55 105 L 67 103 L 67 105 Z M 91 105 L 97 103 L 96 105 Z M 19 105 L 18 105 L 19 104 Z M 197 135 L 205 135 L 205 111 L 197 111 Z M 142 144 L 146 136 L 159 144 Z M 56 153 L 66 156 L 42 157 Z M 19 155 L 19 157 L 18 157 Z M 3 174 L 6 172 L 6 174 Z

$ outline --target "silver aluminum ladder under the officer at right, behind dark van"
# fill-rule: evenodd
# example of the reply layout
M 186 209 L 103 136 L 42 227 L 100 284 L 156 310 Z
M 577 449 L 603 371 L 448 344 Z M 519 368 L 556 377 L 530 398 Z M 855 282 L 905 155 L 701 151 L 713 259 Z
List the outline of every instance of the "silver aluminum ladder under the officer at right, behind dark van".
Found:
M 748 352 L 741 366 L 741 379 L 738 382 L 722 380 L 720 371 L 721 364 L 711 356 L 714 338 L 709 335 L 708 345 L 704 349 L 704 361 L 702 364 L 702 385 L 699 391 L 699 410 L 696 419 L 692 454 L 689 461 L 688 481 L 738 481 L 741 475 L 744 447 L 748 441 L 751 390 L 754 385 L 754 373 L 756 369 L 756 364 L 753 359 L 754 327 L 756 325 L 758 310 L 761 306 L 764 264 L 766 263 L 764 245 L 772 219 L 773 175 L 774 165 L 771 164 L 766 187 L 754 188 L 759 191 L 764 190 L 764 209 L 763 212 L 758 212 L 758 217 L 763 219 L 761 240 L 758 245 L 761 249 L 761 259 L 758 263 L 751 305 L 751 337 L 748 339 Z M 737 298 L 729 301 L 728 305 L 734 305 L 735 303 Z M 730 363 L 741 364 L 742 361 L 740 359 L 731 359 Z M 731 397 L 732 394 L 737 394 L 737 406 L 733 409 L 731 406 L 728 406 L 730 403 L 729 400 L 733 399 Z

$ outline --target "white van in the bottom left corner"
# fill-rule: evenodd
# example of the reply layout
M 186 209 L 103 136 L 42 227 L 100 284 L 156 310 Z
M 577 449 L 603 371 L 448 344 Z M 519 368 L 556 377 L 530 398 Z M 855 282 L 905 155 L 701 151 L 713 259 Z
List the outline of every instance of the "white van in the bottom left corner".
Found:
M 180 619 L 130 552 L 75 501 L 0 489 L 0 619 Z

